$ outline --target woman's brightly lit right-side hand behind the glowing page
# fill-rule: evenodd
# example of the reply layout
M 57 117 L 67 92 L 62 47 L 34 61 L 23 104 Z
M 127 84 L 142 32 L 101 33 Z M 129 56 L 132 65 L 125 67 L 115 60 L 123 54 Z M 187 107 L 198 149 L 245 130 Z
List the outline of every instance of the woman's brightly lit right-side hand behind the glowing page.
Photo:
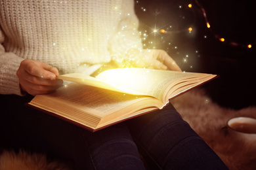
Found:
M 181 68 L 164 50 L 129 50 L 125 55 L 123 67 L 146 67 L 181 71 Z

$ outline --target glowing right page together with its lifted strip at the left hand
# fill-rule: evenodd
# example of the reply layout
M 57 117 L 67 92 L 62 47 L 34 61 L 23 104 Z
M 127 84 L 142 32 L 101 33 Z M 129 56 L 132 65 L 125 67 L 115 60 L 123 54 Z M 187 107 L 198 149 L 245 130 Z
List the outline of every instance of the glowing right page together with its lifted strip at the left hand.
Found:
M 197 76 L 205 75 L 207 74 L 125 68 L 104 71 L 96 76 L 96 78 L 81 75 L 80 73 L 62 75 L 58 76 L 58 78 L 98 88 L 114 90 L 116 92 L 131 93 L 134 95 L 149 95 L 163 101 L 165 90 L 171 88 L 170 84 L 175 85 L 175 83 L 179 83 L 186 78 L 196 78 Z M 187 82 L 188 80 L 185 81 Z

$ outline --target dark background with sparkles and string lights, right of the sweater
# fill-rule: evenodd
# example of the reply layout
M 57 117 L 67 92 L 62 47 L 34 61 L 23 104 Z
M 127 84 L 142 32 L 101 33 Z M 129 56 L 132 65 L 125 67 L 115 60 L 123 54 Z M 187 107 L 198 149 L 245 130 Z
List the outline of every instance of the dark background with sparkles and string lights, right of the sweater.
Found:
M 220 75 L 201 87 L 215 103 L 232 109 L 256 106 L 253 1 L 140 0 L 135 11 L 145 48 L 166 50 L 182 71 Z

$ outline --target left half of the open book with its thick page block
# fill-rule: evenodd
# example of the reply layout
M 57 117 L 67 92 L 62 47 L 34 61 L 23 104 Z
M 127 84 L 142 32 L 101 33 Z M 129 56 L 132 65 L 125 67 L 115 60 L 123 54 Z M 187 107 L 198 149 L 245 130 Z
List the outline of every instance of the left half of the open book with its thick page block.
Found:
M 163 105 L 156 98 L 77 83 L 63 86 L 54 93 L 36 95 L 29 104 L 93 129 Z

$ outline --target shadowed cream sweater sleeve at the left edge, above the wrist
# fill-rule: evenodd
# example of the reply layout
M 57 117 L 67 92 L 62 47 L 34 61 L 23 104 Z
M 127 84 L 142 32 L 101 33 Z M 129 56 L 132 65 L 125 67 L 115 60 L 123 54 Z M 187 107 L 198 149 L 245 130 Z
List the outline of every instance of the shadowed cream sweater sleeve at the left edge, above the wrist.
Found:
M 0 93 L 22 95 L 16 71 L 24 60 L 12 52 L 5 52 L 5 36 L 0 28 Z

